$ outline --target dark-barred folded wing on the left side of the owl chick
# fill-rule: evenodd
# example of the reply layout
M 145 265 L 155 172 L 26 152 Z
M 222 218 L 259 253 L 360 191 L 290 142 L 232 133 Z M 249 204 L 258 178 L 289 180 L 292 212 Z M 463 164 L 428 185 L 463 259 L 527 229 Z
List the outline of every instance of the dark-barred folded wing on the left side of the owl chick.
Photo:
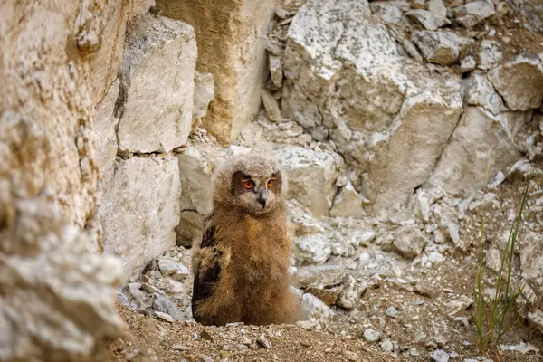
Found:
M 208 299 L 219 281 L 221 262 L 224 253 L 217 249 L 216 225 L 213 215 L 205 223 L 204 235 L 200 243 L 200 261 L 195 265 L 195 281 L 193 285 L 193 314 L 195 306 Z

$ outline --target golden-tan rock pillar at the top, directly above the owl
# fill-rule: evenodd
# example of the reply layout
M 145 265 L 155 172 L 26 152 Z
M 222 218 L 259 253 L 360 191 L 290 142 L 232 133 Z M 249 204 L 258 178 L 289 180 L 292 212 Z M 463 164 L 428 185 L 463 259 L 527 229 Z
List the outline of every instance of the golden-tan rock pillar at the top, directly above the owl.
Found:
M 202 122 L 222 143 L 236 138 L 261 106 L 268 77 L 265 34 L 275 5 L 267 0 L 213 5 L 204 0 L 157 0 L 157 14 L 195 28 L 198 71 L 212 73 L 215 83 L 214 101 Z

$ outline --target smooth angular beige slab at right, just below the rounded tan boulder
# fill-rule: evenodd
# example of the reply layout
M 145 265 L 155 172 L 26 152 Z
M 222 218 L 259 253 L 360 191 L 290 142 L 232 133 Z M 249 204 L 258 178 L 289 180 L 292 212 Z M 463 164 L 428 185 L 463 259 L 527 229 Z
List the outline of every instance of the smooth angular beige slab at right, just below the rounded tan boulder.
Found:
M 513 138 L 526 117 L 520 112 L 494 116 L 479 107 L 466 108 L 426 187 L 461 195 L 482 188 L 489 165 L 489 175 L 494 175 L 519 159 Z

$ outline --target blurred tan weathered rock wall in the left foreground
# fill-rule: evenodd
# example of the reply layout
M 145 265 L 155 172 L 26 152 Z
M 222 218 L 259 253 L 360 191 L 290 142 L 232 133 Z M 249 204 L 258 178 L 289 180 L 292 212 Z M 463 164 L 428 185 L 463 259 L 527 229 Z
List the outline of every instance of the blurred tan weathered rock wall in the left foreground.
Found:
M 0 5 L 0 359 L 95 360 L 120 333 L 88 57 L 105 4 Z

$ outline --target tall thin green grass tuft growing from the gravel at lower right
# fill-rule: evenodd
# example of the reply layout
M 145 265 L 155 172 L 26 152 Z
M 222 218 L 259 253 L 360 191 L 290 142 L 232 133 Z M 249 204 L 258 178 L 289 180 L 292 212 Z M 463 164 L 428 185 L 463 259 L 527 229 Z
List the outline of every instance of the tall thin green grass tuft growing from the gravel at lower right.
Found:
M 505 250 L 500 256 L 500 271 L 496 281 L 491 285 L 495 289 L 494 296 L 489 300 L 484 298 L 483 281 L 483 244 L 484 244 L 484 215 L 481 213 L 481 230 L 479 238 L 479 265 L 477 269 L 477 285 L 474 288 L 475 314 L 472 315 L 473 323 L 477 328 L 477 347 L 481 352 L 490 347 L 498 347 L 501 338 L 514 326 L 515 321 L 507 323 L 507 318 L 515 304 L 515 301 L 522 294 L 524 286 L 519 291 L 510 291 L 512 262 L 515 251 L 515 245 L 519 236 L 520 224 L 522 224 L 522 215 L 528 200 L 529 183 L 524 188 L 519 212 L 511 223 L 510 234 Z

